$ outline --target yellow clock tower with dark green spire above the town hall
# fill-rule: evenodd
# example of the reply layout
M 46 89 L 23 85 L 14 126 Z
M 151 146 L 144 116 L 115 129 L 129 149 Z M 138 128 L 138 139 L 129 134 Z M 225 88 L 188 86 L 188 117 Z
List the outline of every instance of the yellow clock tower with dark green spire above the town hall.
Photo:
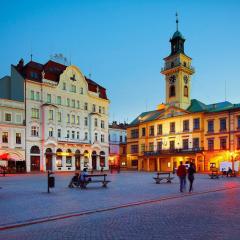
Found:
M 170 39 L 171 53 L 164 58 L 165 65 L 161 73 L 166 81 L 166 104 L 187 109 L 191 103 L 191 75 L 194 69 L 192 59 L 184 52 L 185 39 L 178 30 L 178 16 L 176 14 L 177 30 Z

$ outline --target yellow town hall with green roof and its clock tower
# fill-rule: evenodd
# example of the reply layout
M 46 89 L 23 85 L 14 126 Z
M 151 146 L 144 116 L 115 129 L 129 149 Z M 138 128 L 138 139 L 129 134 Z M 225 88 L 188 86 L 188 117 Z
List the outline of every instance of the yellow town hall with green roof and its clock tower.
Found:
M 177 26 L 178 28 L 178 26 Z M 206 105 L 191 99 L 194 68 L 184 52 L 178 31 L 164 58 L 166 99 L 156 110 L 143 112 L 127 128 L 127 167 L 146 171 L 173 171 L 180 161 L 194 162 L 197 171 L 220 167 L 240 156 L 240 104 Z

